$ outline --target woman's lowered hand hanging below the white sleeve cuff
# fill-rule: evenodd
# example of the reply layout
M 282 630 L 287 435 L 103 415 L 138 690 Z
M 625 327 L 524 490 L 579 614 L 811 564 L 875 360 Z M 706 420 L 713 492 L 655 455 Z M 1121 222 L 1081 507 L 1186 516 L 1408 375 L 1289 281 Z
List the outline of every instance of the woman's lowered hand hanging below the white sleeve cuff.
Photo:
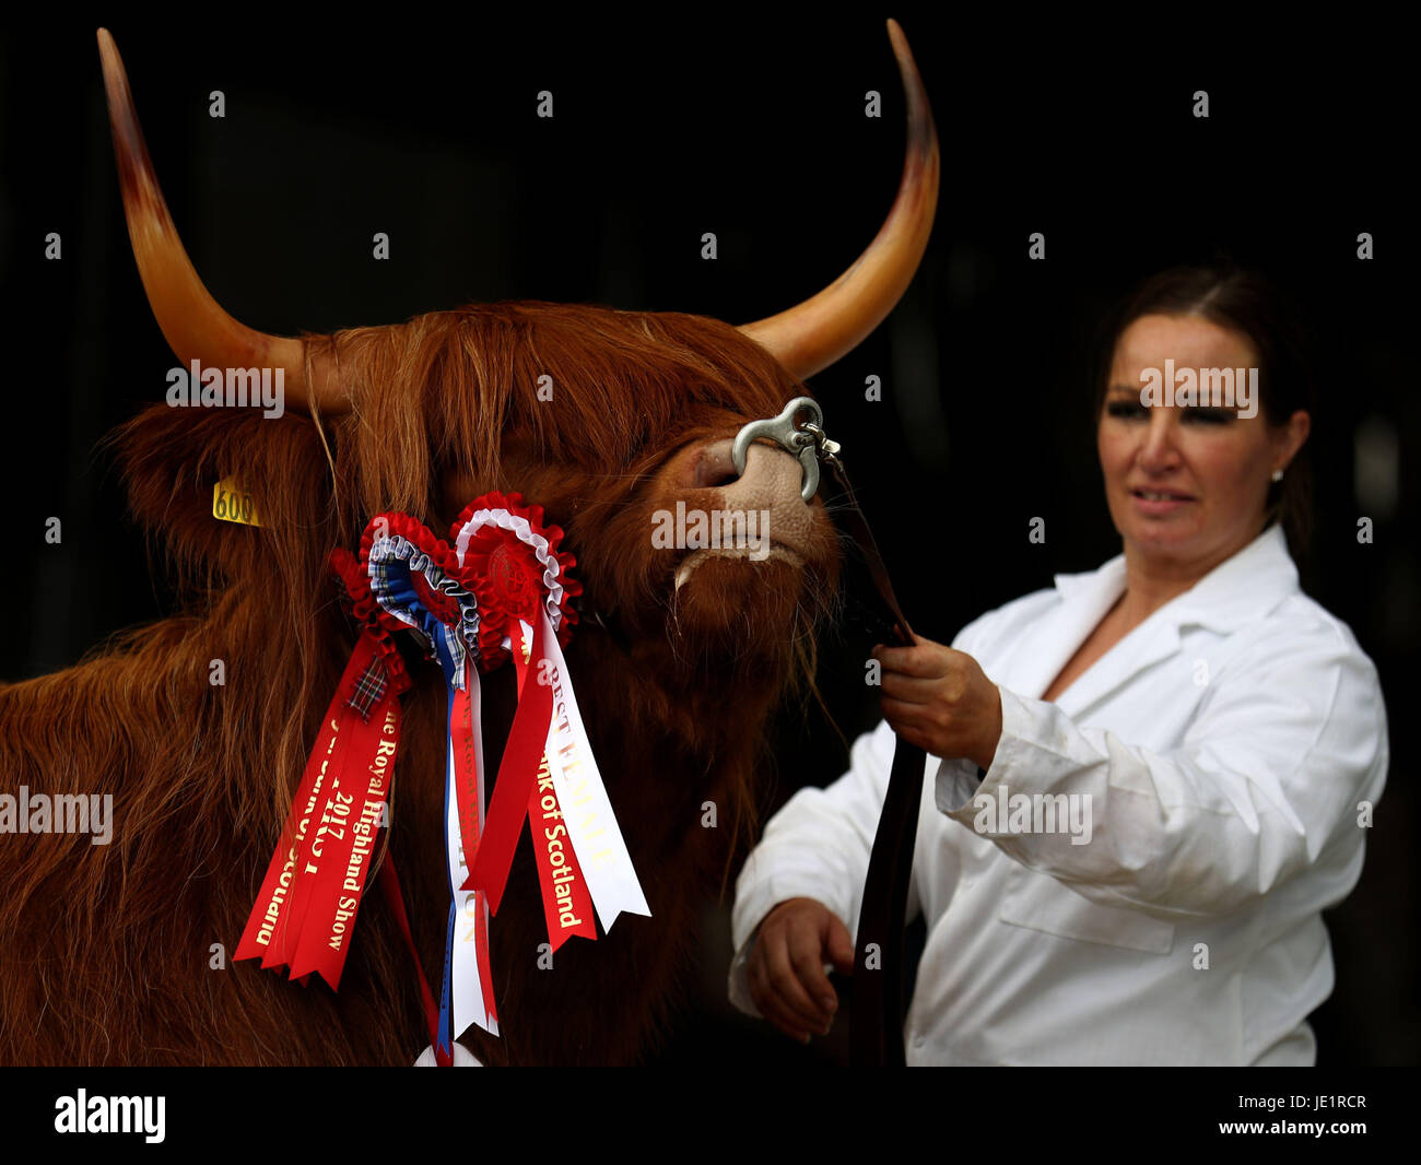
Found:
M 838 1010 L 824 963 L 845 975 L 854 969 L 854 941 L 828 906 L 789 898 L 764 915 L 746 968 L 750 999 L 764 1019 L 800 1043 L 827 1033 Z

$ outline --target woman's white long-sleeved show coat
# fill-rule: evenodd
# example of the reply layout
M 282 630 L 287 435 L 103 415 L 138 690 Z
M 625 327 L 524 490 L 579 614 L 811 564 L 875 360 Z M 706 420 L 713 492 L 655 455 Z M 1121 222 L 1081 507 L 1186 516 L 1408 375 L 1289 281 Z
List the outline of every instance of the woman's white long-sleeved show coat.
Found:
M 909 1064 L 1314 1063 L 1306 1017 L 1333 987 L 1320 912 L 1357 882 L 1387 771 L 1376 668 L 1302 594 L 1272 526 L 1039 700 L 1124 585 L 1123 556 L 1057 575 L 953 641 L 1000 689 L 1002 739 L 980 787 L 972 762 L 928 757 Z M 857 929 L 892 746 L 887 723 L 861 736 L 850 771 L 797 793 L 746 861 L 742 1010 L 777 902 L 817 898 Z M 1067 794 L 1033 803 L 1054 831 L 1046 813 L 999 820 L 1017 794 Z

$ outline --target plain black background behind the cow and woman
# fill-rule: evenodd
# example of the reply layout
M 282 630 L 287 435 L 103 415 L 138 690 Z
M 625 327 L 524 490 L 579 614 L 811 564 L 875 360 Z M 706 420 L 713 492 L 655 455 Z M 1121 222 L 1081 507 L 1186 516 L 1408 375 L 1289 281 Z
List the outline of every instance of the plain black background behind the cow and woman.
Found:
M 462 11 L 462 10 L 460 10 Z M 1319 1063 L 1415 1063 L 1415 702 L 1421 430 L 1415 101 L 1368 24 L 1316 34 L 1003 20 L 863 6 L 567 17 L 290 10 L 112 11 L 0 40 L 0 281 L 6 344 L 0 676 L 74 663 L 166 612 L 161 571 L 95 443 L 159 399 L 172 365 L 129 253 L 94 30 L 114 33 L 173 217 L 237 318 L 296 334 L 465 301 L 540 298 L 743 323 L 830 283 L 877 232 L 902 165 L 884 17 L 904 26 L 942 143 L 942 193 L 912 288 L 814 378 L 830 435 L 888 547 L 917 629 L 951 641 L 985 609 L 1118 553 L 1101 497 L 1087 344 L 1137 278 L 1221 253 L 1303 301 L 1322 401 L 1304 588 L 1376 661 L 1393 764 L 1363 879 L 1329 912 L 1337 987 Z M 1104 18 L 1101 18 L 1104 20 Z M 1384 51 L 1384 48 L 1383 48 Z M 226 118 L 207 114 L 226 95 Z M 534 115 L 551 90 L 556 116 Z M 884 115 L 864 116 L 864 94 Z M 1211 116 L 1191 115 L 1206 90 Z M 391 259 L 371 259 L 387 232 Z M 719 257 L 701 259 L 715 232 Z M 44 259 L 48 232 L 63 260 Z M 1046 261 L 1029 261 L 1043 232 Z M 1376 259 L 1356 257 L 1357 234 Z M 864 401 L 864 378 L 882 401 Z M 1403 450 L 1395 504 L 1363 509 L 1363 422 Z M 64 540 L 44 541 L 60 516 Z M 1376 540 L 1357 543 L 1357 519 Z M 1033 517 L 1044 546 L 1027 541 Z M 766 628 L 774 634 L 774 628 Z M 853 739 L 877 719 L 864 646 L 826 639 L 821 686 Z M 770 803 L 847 750 L 818 715 L 782 723 Z M 728 904 L 726 904 L 728 906 Z M 661 1057 L 834 1061 L 725 1002 L 726 912 Z M 841 1027 L 841 1026 L 840 1026 Z M 840 1033 L 843 1034 L 843 1033 Z

